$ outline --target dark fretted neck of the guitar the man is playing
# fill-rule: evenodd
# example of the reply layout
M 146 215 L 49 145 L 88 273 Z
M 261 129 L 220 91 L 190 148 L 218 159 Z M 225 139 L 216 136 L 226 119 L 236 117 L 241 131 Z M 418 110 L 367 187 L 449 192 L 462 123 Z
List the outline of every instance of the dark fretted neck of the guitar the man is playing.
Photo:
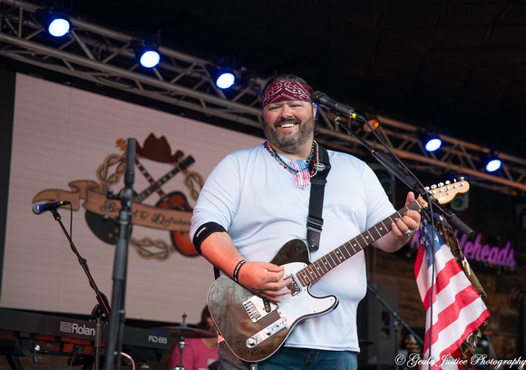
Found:
M 372 228 L 366 229 L 355 239 L 347 241 L 338 248 L 327 253 L 322 258 L 317 259 L 306 268 L 302 268 L 297 272 L 299 282 L 304 287 L 307 287 L 309 284 L 317 281 L 320 277 L 323 277 L 331 269 L 336 268 L 336 266 L 339 266 L 348 258 L 353 257 L 356 253 L 375 242 L 375 240 L 382 238 L 385 234 L 391 231 L 391 224 L 395 222 L 396 219 L 402 218 L 405 211 L 409 209 L 420 211 L 420 209 L 423 209 L 423 206 L 420 200 L 414 200 L 403 209 L 396 211 Z

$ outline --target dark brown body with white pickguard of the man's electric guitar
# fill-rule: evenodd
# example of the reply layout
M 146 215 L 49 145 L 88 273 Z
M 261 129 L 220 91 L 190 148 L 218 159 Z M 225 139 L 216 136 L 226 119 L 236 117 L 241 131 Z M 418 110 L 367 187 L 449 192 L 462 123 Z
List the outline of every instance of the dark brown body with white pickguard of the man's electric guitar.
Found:
M 292 277 L 291 295 L 278 305 L 250 293 L 229 277 L 219 277 L 209 290 L 210 314 L 234 354 L 248 362 L 273 355 L 292 328 L 302 319 L 336 308 L 335 296 L 314 297 L 302 287 L 297 271 L 310 264 L 307 245 L 300 239 L 287 242 L 271 263 Z

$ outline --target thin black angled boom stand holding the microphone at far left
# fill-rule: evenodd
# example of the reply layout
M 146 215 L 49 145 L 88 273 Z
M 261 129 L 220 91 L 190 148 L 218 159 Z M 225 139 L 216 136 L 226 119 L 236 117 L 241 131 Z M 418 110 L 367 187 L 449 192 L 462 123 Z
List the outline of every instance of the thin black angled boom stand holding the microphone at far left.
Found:
M 81 256 L 81 254 L 79 253 L 78 249 L 75 247 L 75 245 L 73 243 L 73 239 L 72 239 L 71 235 L 67 232 L 67 230 L 63 226 L 63 222 L 62 222 L 62 218 L 60 216 L 60 213 L 58 213 L 57 209 L 52 209 L 51 212 L 53 213 L 54 219 L 59 223 L 61 229 L 63 230 L 64 235 L 66 236 L 66 238 L 68 239 L 68 241 L 70 243 L 70 247 L 72 248 L 73 253 L 77 256 L 77 259 L 79 260 L 79 263 L 82 266 L 82 268 L 84 270 L 84 273 L 88 277 L 88 280 L 90 282 L 90 287 L 92 287 L 93 290 L 95 291 L 95 296 L 97 297 L 97 301 L 99 302 L 97 307 L 99 307 L 100 314 L 104 315 L 106 317 L 109 317 L 111 309 L 110 309 L 110 305 L 108 303 L 108 298 L 101 292 L 99 287 L 97 287 L 97 284 L 95 284 L 95 280 L 93 280 L 93 276 L 90 273 L 90 268 L 88 268 L 87 261 Z M 101 343 L 101 339 L 100 338 L 102 336 L 100 321 L 101 321 L 101 317 L 99 315 L 99 317 L 97 317 L 97 324 L 95 325 L 95 340 L 94 340 L 94 344 L 95 344 L 95 366 L 94 366 L 94 370 L 99 370 L 99 359 L 100 359 L 99 348 L 100 348 L 100 343 Z

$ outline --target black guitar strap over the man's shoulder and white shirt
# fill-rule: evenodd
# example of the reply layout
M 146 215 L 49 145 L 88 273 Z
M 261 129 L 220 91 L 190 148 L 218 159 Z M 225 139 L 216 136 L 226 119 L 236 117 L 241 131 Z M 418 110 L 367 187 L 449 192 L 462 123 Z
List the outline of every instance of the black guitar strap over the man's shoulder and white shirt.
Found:
M 319 239 L 323 226 L 323 219 L 321 216 L 326 176 L 331 169 L 326 149 L 319 144 L 317 145 L 317 148 L 317 173 L 310 180 L 310 202 L 307 218 L 307 246 L 311 251 L 319 248 Z

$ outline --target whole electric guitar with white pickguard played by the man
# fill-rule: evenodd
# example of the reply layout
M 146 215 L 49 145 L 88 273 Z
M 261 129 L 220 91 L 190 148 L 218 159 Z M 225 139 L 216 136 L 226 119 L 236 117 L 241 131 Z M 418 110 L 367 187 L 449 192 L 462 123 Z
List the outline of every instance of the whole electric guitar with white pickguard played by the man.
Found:
M 443 204 L 453 200 L 457 193 L 468 190 L 469 184 L 459 181 L 428 192 Z M 336 308 L 336 296 L 314 297 L 309 292 L 309 286 L 387 234 L 391 224 L 395 219 L 402 218 L 406 210 L 421 211 L 426 207 L 427 203 L 419 197 L 313 263 L 309 261 L 307 244 L 303 240 L 289 240 L 270 261 L 285 268 L 284 279 L 292 277 L 292 283 L 287 287 L 291 294 L 281 296 L 278 305 L 255 296 L 225 275 L 219 277 L 209 289 L 208 305 L 219 333 L 234 355 L 248 362 L 262 361 L 283 345 L 301 320 Z

